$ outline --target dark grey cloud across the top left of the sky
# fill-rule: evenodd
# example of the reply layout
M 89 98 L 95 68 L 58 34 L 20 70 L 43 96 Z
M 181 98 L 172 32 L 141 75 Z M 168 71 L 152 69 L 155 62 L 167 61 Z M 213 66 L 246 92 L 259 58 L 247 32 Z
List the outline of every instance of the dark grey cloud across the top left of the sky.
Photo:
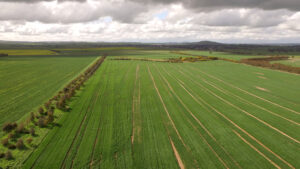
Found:
M 135 2 L 42 2 L 42 3 L 0 3 L 0 20 L 25 20 L 43 23 L 80 23 L 111 16 L 120 22 L 133 22 L 147 7 Z M 134 9 L 134 10 L 132 10 Z M 18 12 L 16 12 L 18 11 Z

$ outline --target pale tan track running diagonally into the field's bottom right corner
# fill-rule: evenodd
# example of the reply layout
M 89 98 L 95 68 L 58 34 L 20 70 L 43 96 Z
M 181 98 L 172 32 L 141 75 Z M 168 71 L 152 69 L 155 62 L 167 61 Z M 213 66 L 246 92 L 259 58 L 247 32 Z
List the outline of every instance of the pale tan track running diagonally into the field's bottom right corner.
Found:
M 200 105 L 202 105 L 202 103 L 195 98 L 195 96 L 193 96 L 181 83 L 180 80 L 171 76 L 172 78 L 174 78 L 177 83 Z M 235 126 L 236 128 L 238 128 L 240 131 L 242 131 L 244 134 L 246 134 L 248 137 L 250 137 L 252 140 L 254 140 L 256 143 L 258 143 L 260 146 L 262 146 L 265 150 L 267 150 L 268 152 L 270 152 L 272 155 L 274 155 L 275 157 L 277 157 L 280 161 L 282 161 L 283 163 L 285 163 L 287 166 L 289 166 L 292 169 L 295 169 L 295 167 L 293 165 L 291 165 L 290 163 L 288 163 L 286 160 L 284 160 L 282 157 L 280 157 L 278 154 L 276 154 L 275 152 L 273 152 L 270 148 L 268 148 L 267 146 L 265 146 L 262 142 L 260 142 L 259 140 L 257 140 L 254 136 L 252 136 L 250 133 L 248 133 L 246 130 L 244 130 L 243 128 L 241 128 L 239 125 L 237 125 L 236 123 L 234 123 L 231 119 L 229 119 L 227 116 L 225 116 L 223 113 L 219 112 L 217 109 L 215 109 L 213 106 L 211 106 L 210 104 L 208 104 L 205 100 L 203 100 L 201 97 L 199 97 L 197 95 L 197 97 L 208 107 L 210 107 L 214 112 L 216 112 L 217 114 L 219 114 L 221 117 L 223 117 L 225 120 L 227 120 L 228 122 L 230 122 L 233 126 Z

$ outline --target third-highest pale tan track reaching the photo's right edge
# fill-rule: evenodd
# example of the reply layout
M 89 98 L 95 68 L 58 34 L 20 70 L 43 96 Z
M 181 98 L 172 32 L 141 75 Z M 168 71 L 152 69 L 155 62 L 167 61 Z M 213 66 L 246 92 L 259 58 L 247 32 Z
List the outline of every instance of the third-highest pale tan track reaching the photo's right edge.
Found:
M 183 73 L 183 72 L 181 72 L 181 71 L 179 71 L 179 72 L 180 72 L 182 75 L 184 75 L 184 73 Z M 184 76 L 185 76 L 185 75 L 184 75 Z M 189 78 L 189 79 L 190 79 L 190 78 Z M 194 80 L 192 80 L 192 79 L 190 79 L 190 80 L 191 80 L 191 81 L 193 81 L 195 84 L 197 84 L 197 85 L 201 86 L 201 87 L 202 87 L 202 88 L 203 88 L 205 91 L 209 92 L 210 94 L 214 95 L 215 97 L 217 97 L 218 99 L 222 100 L 222 101 L 223 101 L 223 102 L 225 102 L 226 104 L 230 105 L 231 107 L 234 107 L 235 109 L 237 109 L 237 110 L 239 110 L 239 111 L 241 111 L 241 112 L 245 113 L 246 115 L 248 115 L 248 116 L 252 117 L 253 119 L 255 119 L 255 120 L 257 120 L 257 121 L 259 121 L 260 123 L 262 123 L 262 124 L 264 124 L 264 125 L 268 126 L 269 128 L 273 129 L 274 131 L 276 131 L 276 132 L 280 133 L 281 135 L 283 135 L 283 136 L 285 136 L 285 137 L 289 138 L 290 140 L 292 140 L 292 141 L 294 141 L 294 142 L 296 142 L 296 143 L 300 144 L 300 141 L 299 141 L 299 140 L 297 140 L 297 139 L 295 139 L 295 138 L 293 138 L 293 137 L 289 136 L 289 135 L 288 135 L 288 134 L 286 134 L 285 132 L 283 132 L 283 131 L 279 130 L 278 128 L 276 128 L 276 127 L 274 127 L 274 126 L 272 126 L 271 124 L 269 124 L 269 123 L 265 122 L 264 120 L 261 120 L 260 118 L 258 118 L 258 117 L 256 117 L 256 116 L 254 116 L 253 114 L 251 114 L 251 113 L 247 112 L 246 110 L 244 110 L 244 109 L 242 109 L 242 108 L 240 108 L 240 107 L 238 107 L 238 106 L 234 105 L 233 103 L 229 102 L 228 100 L 226 100 L 226 99 L 224 99 L 224 98 L 220 97 L 219 95 L 215 94 L 215 93 L 214 93 L 214 92 L 212 92 L 211 90 L 209 90 L 209 89 L 205 88 L 205 87 L 204 87 L 202 84 L 200 84 L 200 83 L 197 83 L 197 82 L 195 82 L 195 81 L 194 81 Z

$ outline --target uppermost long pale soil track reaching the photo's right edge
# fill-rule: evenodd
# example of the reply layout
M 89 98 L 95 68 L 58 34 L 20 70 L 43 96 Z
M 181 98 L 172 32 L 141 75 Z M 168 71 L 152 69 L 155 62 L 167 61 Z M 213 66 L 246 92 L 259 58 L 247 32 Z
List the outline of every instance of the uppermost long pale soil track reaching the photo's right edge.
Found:
M 300 114 L 300 112 L 297 112 L 297 111 L 292 110 L 292 109 L 290 109 L 290 108 L 284 107 L 284 106 L 279 105 L 279 104 L 277 104 L 277 103 L 271 102 L 270 100 L 264 99 L 264 98 L 262 98 L 262 97 L 260 97 L 260 96 L 257 96 L 257 95 L 255 95 L 255 94 L 253 94 L 253 93 L 250 93 L 250 92 L 246 91 L 246 90 L 243 90 L 243 89 L 241 89 L 241 88 L 239 88 L 239 87 L 237 87 L 237 86 L 234 86 L 234 85 L 232 85 L 232 84 L 230 84 L 230 83 L 228 83 L 228 82 L 225 82 L 225 81 L 223 81 L 223 80 L 221 80 L 221 79 L 219 79 L 219 78 L 217 78 L 217 77 L 215 77 L 215 76 L 213 76 L 213 75 L 210 75 L 210 74 L 208 74 L 208 73 L 206 73 L 206 72 L 203 72 L 203 71 L 201 71 L 201 70 L 199 70 L 199 69 L 195 69 L 195 70 L 198 70 L 198 71 L 200 71 L 201 73 L 206 74 L 207 76 L 209 76 L 209 77 L 211 77 L 211 78 L 213 78 L 213 79 L 216 79 L 216 80 L 218 80 L 218 81 L 220 81 L 220 82 L 226 84 L 227 86 L 230 86 L 230 87 L 235 88 L 235 89 L 237 89 L 237 90 L 239 90 L 239 91 L 242 91 L 242 92 L 244 92 L 244 93 L 246 93 L 246 94 L 248 94 L 248 95 L 251 95 L 251 96 L 253 96 L 253 97 L 256 97 L 256 98 L 258 98 L 258 99 L 260 99 L 260 100 L 263 100 L 263 101 L 265 101 L 265 102 L 268 102 L 268 103 L 270 103 L 270 104 L 273 104 L 273 105 L 275 105 L 275 106 L 277 106 L 277 107 L 280 107 L 280 108 L 282 108 L 282 109 L 285 109 L 285 110 L 287 110 L 287 111 L 293 112 L 293 113 L 295 113 L 295 114 Z

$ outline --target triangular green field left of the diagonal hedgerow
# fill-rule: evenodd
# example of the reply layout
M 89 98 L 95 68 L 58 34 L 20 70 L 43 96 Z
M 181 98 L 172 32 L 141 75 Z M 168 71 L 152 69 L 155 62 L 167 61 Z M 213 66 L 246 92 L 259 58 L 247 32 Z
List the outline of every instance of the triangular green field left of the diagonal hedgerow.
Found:
M 95 57 L 0 58 L 0 125 L 19 120 L 60 90 Z

